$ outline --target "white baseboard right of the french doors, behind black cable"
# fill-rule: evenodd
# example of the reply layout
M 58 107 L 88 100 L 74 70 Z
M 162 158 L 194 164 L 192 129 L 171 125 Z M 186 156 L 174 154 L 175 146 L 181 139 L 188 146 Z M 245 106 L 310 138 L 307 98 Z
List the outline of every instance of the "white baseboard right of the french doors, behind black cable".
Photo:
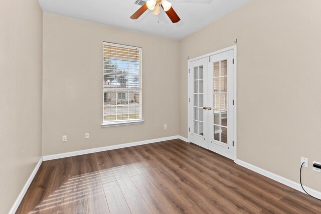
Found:
M 291 187 L 293 189 L 296 189 L 296 190 L 298 190 L 300 192 L 305 193 L 303 191 L 300 183 L 294 182 L 294 181 L 289 180 L 289 179 L 287 179 L 285 177 L 282 177 L 280 175 L 274 174 L 272 172 L 269 172 L 269 171 L 267 171 L 265 169 L 262 169 L 262 168 L 259 168 L 257 166 L 254 166 L 254 165 L 252 165 L 250 163 L 247 163 L 247 162 L 245 162 L 243 160 L 240 160 L 240 159 L 236 159 L 235 163 L 240 165 L 240 166 L 243 166 L 245 168 L 248 168 L 248 169 L 250 169 L 252 171 L 255 171 L 255 172 L 257 172 L 257 173 L 259 173 L 261 175 L 264 175 L 265 177 L 271 178 L 272 180 L 275 180 L 275 181 L 277 181 L 279 183 L 282 183 L 282 184 L 287 185 L 287 186 L 289 186 L 289 187 Z M 303 185 L 303 187 L 310 195 L 313 195 L 314 197 L 317 197 L 317 198 L 321 198 L 321 192 L 319 192 L 317 190 L 314 190 L 314 189 L 312 189 L 310 187 L 304 186 L 304 185 Z

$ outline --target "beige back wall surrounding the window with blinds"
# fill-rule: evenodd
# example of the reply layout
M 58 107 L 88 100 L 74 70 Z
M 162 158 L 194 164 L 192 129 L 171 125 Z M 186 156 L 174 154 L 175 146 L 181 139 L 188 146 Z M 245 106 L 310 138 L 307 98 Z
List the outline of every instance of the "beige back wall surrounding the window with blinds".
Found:
M 43 155 L 178 135 L 178 41 L 47 13 L 43 35 Z M 143 124 L 101 127 L 103 41 L 142 47 Z

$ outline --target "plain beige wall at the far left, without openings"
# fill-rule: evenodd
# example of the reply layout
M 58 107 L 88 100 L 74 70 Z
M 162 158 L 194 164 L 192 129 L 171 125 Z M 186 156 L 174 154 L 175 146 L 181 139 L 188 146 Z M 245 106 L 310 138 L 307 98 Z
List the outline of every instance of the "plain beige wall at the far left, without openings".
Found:
M 42 11 L 0 6 L 0 213 L 8 213 L 41 158 Z

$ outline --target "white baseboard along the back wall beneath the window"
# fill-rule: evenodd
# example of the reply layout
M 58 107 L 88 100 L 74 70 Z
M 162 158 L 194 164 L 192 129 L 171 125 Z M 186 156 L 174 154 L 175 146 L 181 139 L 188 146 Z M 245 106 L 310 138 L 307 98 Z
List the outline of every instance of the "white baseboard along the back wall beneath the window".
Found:
M 175 135 L 175 136 L 171 136 L 171 137 L 162 137 L 162 138 L 143 140 L 143 141 L 132 142 L 132 143 L 124 143 L 124 144 L 104 146 L 104 147 L 92 148 L 92 149 L 86 149 L 86 150 L 80 150 L 80 151 L 66 152 L 66 153 L 61 153 L 61 154 L 46 155 L 46 156 L 43 156 L 43 158 L 44 158 L 44 161 L 54 160 L 54 159 L 59 159 L 59 158 L 64 158 L 64 157 L 72 157 L 72 156 L 77 156 L 77 155 L 82 155 L 82 154 L 90 154 L 90 153 L 95 153 L 95 152 L 108 151 L 108 150 L 113 150 L 113 149 L 120 149 L 120 148 L 126 148 L 126 147 L 131 147 L 131 146 L 138 146 L 138 145 L 143 145 L 143 144 L 162 142 L 162 141 L 166 141 L 166 140 L 174 140 L 174 139 L 178 139 L 178 138 L 179 138 L 179 136 Z

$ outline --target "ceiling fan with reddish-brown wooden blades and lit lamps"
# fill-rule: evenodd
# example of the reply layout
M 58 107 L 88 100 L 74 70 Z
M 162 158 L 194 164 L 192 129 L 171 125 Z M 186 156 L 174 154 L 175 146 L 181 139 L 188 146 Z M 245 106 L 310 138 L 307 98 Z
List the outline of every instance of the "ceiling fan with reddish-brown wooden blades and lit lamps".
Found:
M 147 11 L 147 9 L 151 10 L 153 15 L 158 16 L 160 14 L 160 8 L 163 8 L 163 10 L 173 23 L 180 22 L 181 19 L 172 8 L 172 4 L 167 0 L 148 0 L 133 15 L 131 15 L 130 19 L 138 19 L 145 11 Z

